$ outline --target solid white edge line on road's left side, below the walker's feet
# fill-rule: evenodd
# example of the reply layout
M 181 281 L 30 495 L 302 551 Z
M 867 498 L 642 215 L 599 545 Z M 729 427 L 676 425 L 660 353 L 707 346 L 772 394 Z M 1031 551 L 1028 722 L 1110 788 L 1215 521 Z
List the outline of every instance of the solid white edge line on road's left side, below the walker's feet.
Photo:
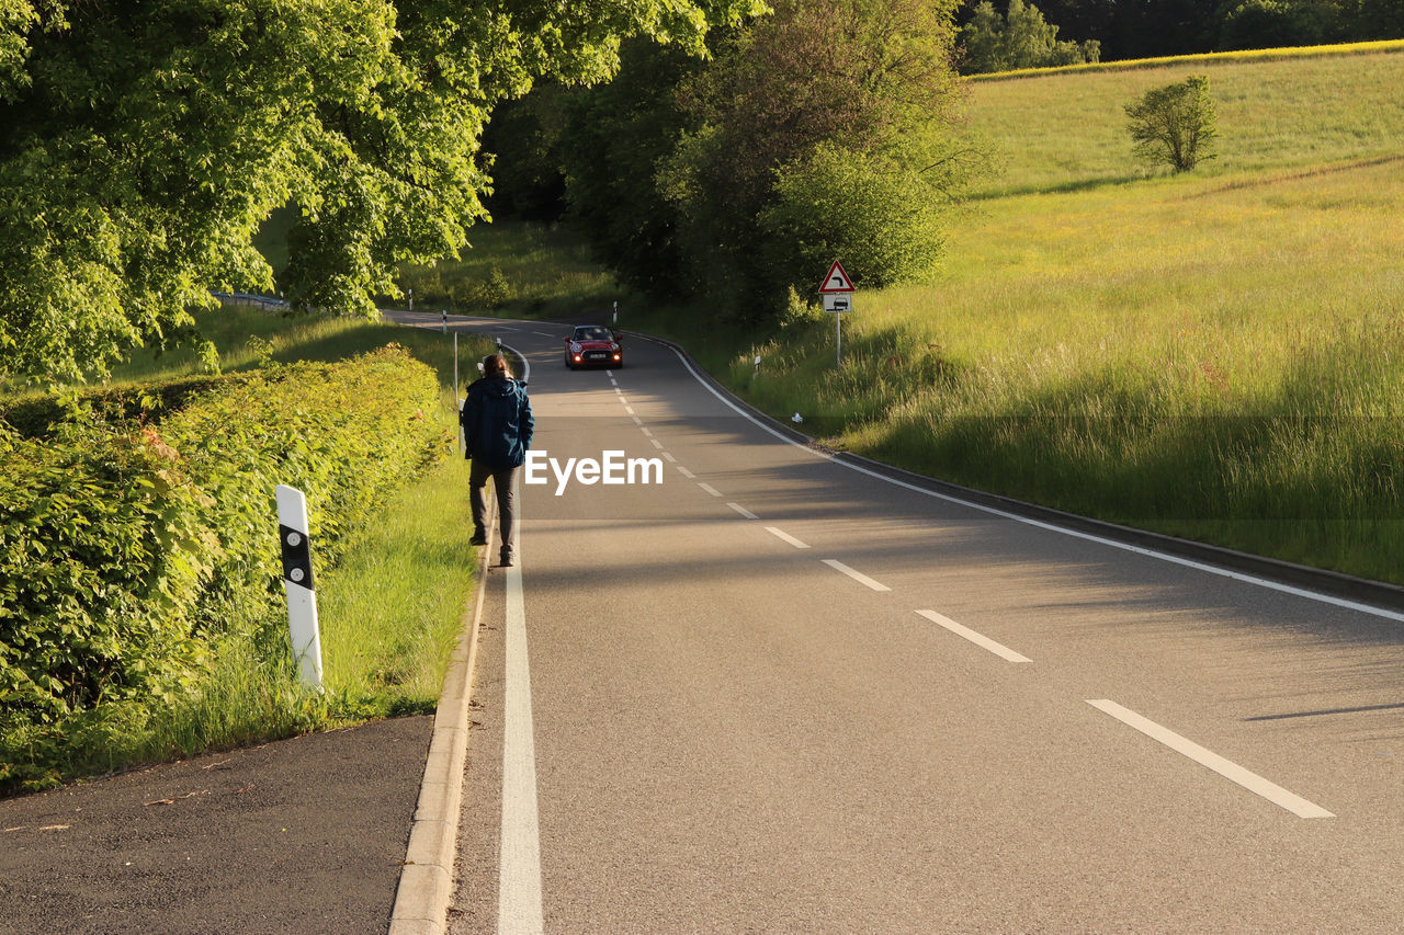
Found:
M 541 825 L 536 813 L 536 748 L 526 658 L 526 601 L 521 555 L 507 569 L 507 685 L 503 702 L 503 835 L 497 886 L 497 931 L 538 935 L 545 929 L 541 900 Z

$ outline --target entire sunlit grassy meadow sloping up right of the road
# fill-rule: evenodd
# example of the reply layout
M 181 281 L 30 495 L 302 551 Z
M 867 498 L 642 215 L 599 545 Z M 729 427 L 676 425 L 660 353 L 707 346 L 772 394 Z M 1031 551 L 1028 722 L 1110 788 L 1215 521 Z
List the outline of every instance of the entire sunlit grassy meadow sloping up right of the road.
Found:
M 1221 157 L 1147 173 L 1120 108 L 1191 73 Z M 842 371 L 827 316 L 705 352 L 835 448 L 1404 583 L 1400 88 L 1397 51 L 973 83 L 1004 171 L 936 279 L 859 291 Z

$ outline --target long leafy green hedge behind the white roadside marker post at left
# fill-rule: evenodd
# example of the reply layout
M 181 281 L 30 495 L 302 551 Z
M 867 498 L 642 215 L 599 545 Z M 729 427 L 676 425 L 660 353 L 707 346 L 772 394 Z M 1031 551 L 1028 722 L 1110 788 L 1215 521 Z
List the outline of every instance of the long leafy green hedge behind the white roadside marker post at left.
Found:
M 446 451 L 425 418 L 438 397 L 432 369 L 390 345 L 220 382 L 156 424 L 0 427 L 0 789 L 66 772 L 52 761 L 124 705 L 191 691 L 281 599 L 275 484 L 307 496 L 314 562 L 333 563 Z

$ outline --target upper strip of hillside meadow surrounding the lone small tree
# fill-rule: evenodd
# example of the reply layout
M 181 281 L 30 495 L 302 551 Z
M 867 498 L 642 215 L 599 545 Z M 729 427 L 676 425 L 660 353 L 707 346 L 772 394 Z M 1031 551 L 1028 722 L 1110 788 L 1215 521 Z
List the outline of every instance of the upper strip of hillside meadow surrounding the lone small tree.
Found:
M 1164 59 L 1154 67 L 1067 70 L 972 81 L 970 131 L 1001 173 L 979 195 L 1085 190 L 1140 180 L 1123 105 L 1151 87 L 1207 74 L 1219 105 L 1219 159 L 1199 175 L 1314 170 L 1398 156 L 1404 44 L 1335 53 Z M 1376 51 L 1367 51 L 1376 49 Z

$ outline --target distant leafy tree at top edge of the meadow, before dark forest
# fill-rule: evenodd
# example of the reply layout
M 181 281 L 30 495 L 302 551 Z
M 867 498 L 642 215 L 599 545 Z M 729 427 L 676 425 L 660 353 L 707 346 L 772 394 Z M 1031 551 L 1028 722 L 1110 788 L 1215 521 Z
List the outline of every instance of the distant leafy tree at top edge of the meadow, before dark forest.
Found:
M 962 70 L 974 74 L 1099 60 L 1101 44 L 1097 39 L 1060 41 L 1057 31 L 1032 3 L 1009 0 L 1007 14 L 1001 17 L 990 0 L 983 0 L 960 29 L 965 46 Z

